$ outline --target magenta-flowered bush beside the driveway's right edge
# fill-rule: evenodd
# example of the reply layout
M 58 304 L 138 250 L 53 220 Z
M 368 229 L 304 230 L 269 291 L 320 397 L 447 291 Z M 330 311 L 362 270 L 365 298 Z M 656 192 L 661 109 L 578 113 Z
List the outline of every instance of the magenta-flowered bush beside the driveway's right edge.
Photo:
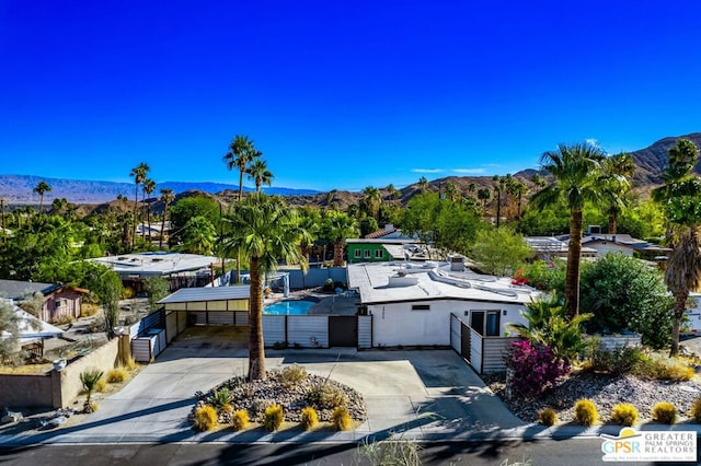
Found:
M 570 369 L 550 347 L 530 340 L 512 342 L 504 360 L 512 375 L 507 383 L 524 398 L 532 398 L 555 386 L 558 378 Z

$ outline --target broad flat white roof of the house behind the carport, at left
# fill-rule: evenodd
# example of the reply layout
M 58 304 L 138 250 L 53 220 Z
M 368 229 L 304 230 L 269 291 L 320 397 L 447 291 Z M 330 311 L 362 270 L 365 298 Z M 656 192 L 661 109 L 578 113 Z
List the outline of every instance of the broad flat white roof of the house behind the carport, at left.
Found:
M 212 263 L 221 261 L 220 258 L 215 256 L 171 252 L 120 254 L 90 260 L 104 264 L 119 275 L 145 276 L 163 276 L 199 270 L 208 268 Z

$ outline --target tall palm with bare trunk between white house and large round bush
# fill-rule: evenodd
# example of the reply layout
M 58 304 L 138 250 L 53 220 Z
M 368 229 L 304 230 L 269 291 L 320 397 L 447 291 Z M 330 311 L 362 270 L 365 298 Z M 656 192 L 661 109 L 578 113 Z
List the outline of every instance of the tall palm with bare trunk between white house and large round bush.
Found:
M 570 246 L 565 272 L 565 310 L 572 318 L 579 314 L 579 260 L 582 255 L 582 211 L 586 202 L 600 203 L 616 194 L 608 193 L 608 177 L 601 171 L 605 153 L 588 143 L 560 144 L 545 152 L 542 168 L 553 176 L 549 186 L 533 195 L 530 203 L 538 210 L 564 200 L 570 210 Z M 621 180 L 622 183 L 622 180 Z

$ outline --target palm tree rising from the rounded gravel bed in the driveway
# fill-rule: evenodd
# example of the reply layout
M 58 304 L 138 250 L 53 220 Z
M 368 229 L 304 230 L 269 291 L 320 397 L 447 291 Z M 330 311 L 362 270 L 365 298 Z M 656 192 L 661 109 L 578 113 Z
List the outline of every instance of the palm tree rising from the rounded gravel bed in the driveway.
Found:
M 263 194 L 249 196 L 226 221 L 231 228 L 223 240 L 223 249 L 243 254 L 250 265 L 249 378 L 263 380 L 263 279 L 277 269 L 280 259 L 287 264 L 300 263 L 306 270 L 307 263 L 298 246 L 301 230 L 294 209 L 280 198 Z

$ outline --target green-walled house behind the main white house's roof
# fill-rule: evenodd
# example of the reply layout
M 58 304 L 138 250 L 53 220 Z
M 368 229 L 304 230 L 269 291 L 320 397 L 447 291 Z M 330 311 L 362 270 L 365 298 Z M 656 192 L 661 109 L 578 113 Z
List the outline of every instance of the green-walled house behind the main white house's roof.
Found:
M 411 238 L 347 238 L 348 264 L 386 263 L 389 260 L 426 260 L 426 249 Z

